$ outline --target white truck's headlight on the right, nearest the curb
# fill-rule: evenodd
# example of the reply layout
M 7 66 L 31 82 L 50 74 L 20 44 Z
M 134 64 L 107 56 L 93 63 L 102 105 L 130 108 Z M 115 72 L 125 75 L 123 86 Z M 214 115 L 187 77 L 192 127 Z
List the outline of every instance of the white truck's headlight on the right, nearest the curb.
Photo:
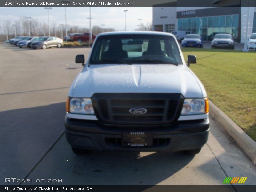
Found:
M 209 112 L 208 98 L 185 99 L 181 115 L 198 115 Z

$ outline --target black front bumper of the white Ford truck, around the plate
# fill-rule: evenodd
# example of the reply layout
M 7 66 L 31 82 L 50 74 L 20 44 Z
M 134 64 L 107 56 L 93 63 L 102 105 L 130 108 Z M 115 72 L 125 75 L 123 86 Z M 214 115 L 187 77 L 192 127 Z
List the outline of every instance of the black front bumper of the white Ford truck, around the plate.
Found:
M 153 132 L 152 147 L 123 147 L 122 132 Z M 65 133 L 72 147 L 118 151 L 181 151 L 202 147 L 208 140 L 209 119 L 172 125 L 107 125 L 99 121 L 65 118 Z

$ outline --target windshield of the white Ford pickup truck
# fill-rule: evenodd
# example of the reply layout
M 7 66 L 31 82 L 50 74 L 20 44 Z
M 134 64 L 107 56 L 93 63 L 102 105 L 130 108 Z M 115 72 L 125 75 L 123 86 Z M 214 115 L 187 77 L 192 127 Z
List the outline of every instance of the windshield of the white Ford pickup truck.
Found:
M 175 39 L 167 35 L 103 35 L 97 38 L 90 64 L 182 64 Z

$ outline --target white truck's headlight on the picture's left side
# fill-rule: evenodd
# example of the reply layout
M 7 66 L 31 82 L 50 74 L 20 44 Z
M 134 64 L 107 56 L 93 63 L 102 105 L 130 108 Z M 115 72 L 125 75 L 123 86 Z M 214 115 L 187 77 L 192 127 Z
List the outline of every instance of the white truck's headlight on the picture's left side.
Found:
M 69 113 L 94 115 L 92 100 L 90 98 L 70 98 L 68 107 L 67 112 Z

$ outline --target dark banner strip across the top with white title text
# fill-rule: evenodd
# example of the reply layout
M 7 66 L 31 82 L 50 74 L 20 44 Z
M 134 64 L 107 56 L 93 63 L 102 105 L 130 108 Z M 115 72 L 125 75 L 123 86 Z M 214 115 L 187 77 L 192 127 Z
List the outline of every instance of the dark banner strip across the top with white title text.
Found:
M 256 0 L 1 0 L 0 7 L 256 7 Z

